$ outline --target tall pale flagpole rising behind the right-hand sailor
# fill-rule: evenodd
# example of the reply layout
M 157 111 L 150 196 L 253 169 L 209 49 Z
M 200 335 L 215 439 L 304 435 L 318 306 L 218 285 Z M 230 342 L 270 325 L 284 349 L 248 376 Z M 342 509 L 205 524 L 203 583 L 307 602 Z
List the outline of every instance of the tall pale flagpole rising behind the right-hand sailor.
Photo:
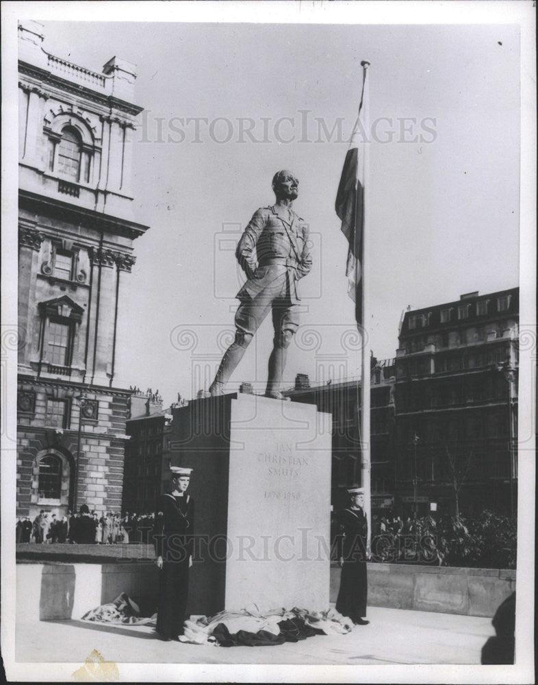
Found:
M 361 297 L 362 297 L 362 321 L 361 321 L 361 485 L 364 488 L 364 512 L 368 520 L 368 536 L 366 549 L 370 552 L 372 536 L 372 497 L 370 493 L 370 336 L 368 335 L 370 323 L 370 310 L 368 298 L 368 273 L 370 272 L 370 260 L 368 259 L 368 233 L 370 223 L 368 221 L 370 200 L 370 98 L 368 97 L 368 67 L 370 62 L 361 62 L 363 68 L 363 132 L 366 135 L 363 155 L 363 232 L 361 249 Z

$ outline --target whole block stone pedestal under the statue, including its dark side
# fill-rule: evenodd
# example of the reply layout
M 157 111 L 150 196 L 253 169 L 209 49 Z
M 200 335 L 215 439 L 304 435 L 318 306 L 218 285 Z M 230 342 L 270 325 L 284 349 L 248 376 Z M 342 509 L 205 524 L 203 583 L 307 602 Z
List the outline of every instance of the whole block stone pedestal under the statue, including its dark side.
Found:
M 174 411 L 172 464 L 194 469 L 188 612 L 329 608 L 331 415 L 257 395 Z

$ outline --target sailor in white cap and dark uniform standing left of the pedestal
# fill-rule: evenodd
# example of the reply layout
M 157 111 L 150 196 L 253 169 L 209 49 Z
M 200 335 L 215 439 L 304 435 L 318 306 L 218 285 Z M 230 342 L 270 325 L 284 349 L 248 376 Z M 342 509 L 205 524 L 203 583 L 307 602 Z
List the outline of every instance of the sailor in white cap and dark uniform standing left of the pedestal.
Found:
M 183 634 L 194 547 L 194 501 L 185 493 L 192 469 L 170 466 L 170 471 L 170 492 L 157 501 L 153 532 L 160 569 L 157 633 L 166 641 Z

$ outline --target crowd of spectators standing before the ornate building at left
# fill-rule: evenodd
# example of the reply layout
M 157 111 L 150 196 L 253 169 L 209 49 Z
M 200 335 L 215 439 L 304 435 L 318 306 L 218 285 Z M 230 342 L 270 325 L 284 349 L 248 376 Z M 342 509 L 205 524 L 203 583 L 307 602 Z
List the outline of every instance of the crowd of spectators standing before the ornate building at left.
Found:
M 90 511 L 83 504 L 79 512 L 57 516 L 41 510 L 34 521 L 21 516 L 16 522 L 17 543 L 75 543 L 114 545 L 151 543 L 155 514 L 125 514 Z

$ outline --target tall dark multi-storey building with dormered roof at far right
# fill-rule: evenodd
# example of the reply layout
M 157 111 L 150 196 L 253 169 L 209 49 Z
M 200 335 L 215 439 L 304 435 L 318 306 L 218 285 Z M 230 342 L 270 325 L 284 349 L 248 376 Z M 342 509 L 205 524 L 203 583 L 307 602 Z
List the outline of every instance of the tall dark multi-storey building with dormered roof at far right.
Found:
M 519 289 L 408 311 L 396 356 L 396 496 L 419 514 L 515 511 Z

